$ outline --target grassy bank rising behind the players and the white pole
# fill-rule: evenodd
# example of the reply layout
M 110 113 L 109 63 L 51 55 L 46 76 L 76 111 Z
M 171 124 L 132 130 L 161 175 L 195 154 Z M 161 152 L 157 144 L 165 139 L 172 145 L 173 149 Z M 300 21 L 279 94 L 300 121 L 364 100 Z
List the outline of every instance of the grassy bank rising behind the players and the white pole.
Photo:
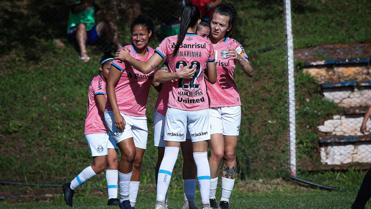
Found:
M 39 1 L 39 4 L 33 6 L 40 9 L 49 8 L 51 4 L 48 2 Z M 281 45 L 272 51 L 260 52 L 250 58 L 255 71 L 252 79 L 247 79 L 239 68 L 234 74 L 243 103 L 241 123 L 243 128 L 237 149 L 239 165 L 237 178 L 242 183 L 249 182 L 250 179 L 279 178 L 288 172 L 283 3 L 272 0 L 232 2 L 235 3 L 240 16 L 234 38 L 242 43 L 247 54 L 268 46 Z M 369 4 L 368 0 L 349 2 L 308 0 L 292 3 L 296 49 L 322 43 L 371 41 L 371 28 L 365 25 L 371 22 L 370 9 L 365 6 Z M 1 1 L 0 5 L 0 14 L 3 14 L 6 13 L 4 10 L 13 4 Z M 0 40 L 0 45 L 7 48 L 1 51 L 0 57 L 3 66 L 0 70 L 2 87 L 0 180 L 63 183 L 70 181 L 91 163 L 91 155 L 83 136 L 83 123 L 86 116 L 88 86 L 98 73 L 98 60 L 102 55 L 102 49 L 96 46 L 88 47 L 91 61 L 82 63 L 78 60 L 78 52 L 63 39 L 65 28 L 61 30 L 62 35 L 52 33 L 53 36 L 49 37 L 48 32 L 52 32 L 51 29 L 42 30 L 42 27 L 46 28 L 49 25 L 49 22 L 42 18 L 46 13 L 37 16 L 24 12 L 26 10 L 22 8 L 23 5 L 25 4 L 14 3 L 12 12 L 5 17 L 17 15 L 16 17 L 20 19 L 30 19 L 27 24 L 16 18 L 0 19 L 0 26 L 6 28 L 0 31 L 0 35 L 6 37 Z M 58 4 L 53 4 L 50 7 L 57 6 Z M 34 8 L 35 11 L 37 8 Z M 118 27 L 121 40 L 128 44 L 128 26 L 118 23 Z M 27 37 L 23 39 L 20 37 L 22 34 L 27 34 Z M 61 37 L 66 47 L 56 49 L 52 38 Z M 154 42 L 151 46 L 156 47 L 157 44 L 158 42 Z M 316 127 L 319 121 L 340 114 L 342 109 L 332 102 L 323 100 L 319 85 L 313 78 L 302 73 L 300 62 L 297 61 L 296 64 L 297 155 L 300 168 L 301 162 L 319 163 Z M 152 141 L 152 110 L 156 98 L 157 93 L 151 89 L 147 104 L 148 149 L 143 161 L 142 184 L 154 183 L 154 162 L 157 155 Z M 180 167 L 178 163 L 174 170 L 175 182 L 180 182 Z M 318 183 L 357 190 L 364 173 L 349 168 L 348 171 L 300 174 Z M 89 185 L 105 188 L 104 174 L 91 179 Z M 9 187 L 5 189 L 11 190 Z M 275 199 L 269 199 L 273 194 Z M 295 203 L 286 199 L 286 194 L 289 193 L 246 194 L 246 196 L 241 194 L 239 198 L 240 201 L 249 202 L 251 208 L 259 208 L 263 201 L 279 208 L 278 205 L 274 205 L 275 201 L 282 204 L 281 207 Z M 313 196 L 306 196 L 305 192 L 299 193 L 299 202 L 309 204 L 311 199 L 318 198 L 320 207 L 325 204 L 326 197 L 331 197 L 329 198 L 332 201 L 329 203 L 331 208 L 332 203 L 340 207 L 339 204 L 342 202 L 340 200 L 350 201 L 354 197 L 354 194 L 344 193 L 313 192 L 311 195 Z M 252 201 L 249 201 L 249 198 Z M 96 199 L 96 202 L 98 200 Z M 150 202 L 148 204 L 151 205 Z

